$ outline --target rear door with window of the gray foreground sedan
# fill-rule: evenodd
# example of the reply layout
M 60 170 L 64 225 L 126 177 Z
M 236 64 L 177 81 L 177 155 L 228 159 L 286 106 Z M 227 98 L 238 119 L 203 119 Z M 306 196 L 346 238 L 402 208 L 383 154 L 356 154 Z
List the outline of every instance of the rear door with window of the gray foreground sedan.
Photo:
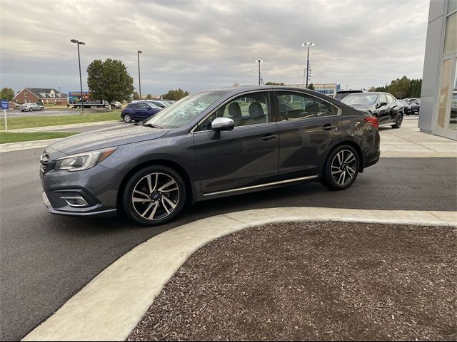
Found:
M 340 138 L 341 109 L 296 91 L 276 91 L 281 178 L 317 175 L 329 147 Z

